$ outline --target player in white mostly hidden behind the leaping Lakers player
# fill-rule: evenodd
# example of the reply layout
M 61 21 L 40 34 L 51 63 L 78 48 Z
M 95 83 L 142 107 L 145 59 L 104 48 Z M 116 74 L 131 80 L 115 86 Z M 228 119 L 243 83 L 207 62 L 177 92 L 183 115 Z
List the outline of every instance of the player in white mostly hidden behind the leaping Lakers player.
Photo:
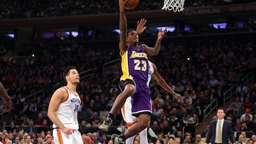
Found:
M 157 67 L 156 65 L 154 65 L 153 62 L 149 61 L 149 71 L 148 71 L 148 81 L 147 81 L 147 85 L 149 86 L 149 82 L 151 81 L 151 77 L 153 76 L 154 79 L 156 80 L 156 82 L 163 88 L 165 89 L 167 92 L 171 93 L 174 98 L 176 98 L 179 102 L 181 101 L 181 95 L 180 94 L 176 94 L 171 87 L 169 87 L 168 84 L 166 84 L 165 80 L 161 77 L 161 75 L 159 74 L 159 72 L 157 71 Z M 132 116 L 132 99 L 129 96 L 127 98 L 127 100 L 124 103 L 124 106 L 121 109 L 122 111 L 122 116 L 124 118 L 124 121 L 127 123 L 128 128 L 130 126 L 132 126 L 134 123 L 137 123 L 137 117 Z M 127 140 L 125 141 L 126 144 L 132 144 L 134 141 L 136 135 L 132 136 L 131 138 L 127 138 Z M 147 128 L 145 128 L 143 131 L 141 131 L 139 133 L 139 137 L 140 137 L 140 144 L 148 144 L 148 140 L 147 140 Z

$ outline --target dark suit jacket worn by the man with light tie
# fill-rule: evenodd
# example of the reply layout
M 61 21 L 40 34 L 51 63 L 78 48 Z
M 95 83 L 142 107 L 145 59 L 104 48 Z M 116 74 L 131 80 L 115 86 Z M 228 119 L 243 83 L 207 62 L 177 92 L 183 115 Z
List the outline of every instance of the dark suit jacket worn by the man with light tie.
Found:
M 215 143 L 215 134 L 216 134 L 216 124 L 217 121 L 210 121 L 210 130 L 206 138 L 206 143 Z M 235 137 L 233 133 L 232 123 L 227 120 L 224 120 L 223 123 L 223 133 L 222 133 L 222 142 L 223 144 L 228 144 L 228 138 L 235 143 Z M 210 142 L 211 140 L 211 142 Z

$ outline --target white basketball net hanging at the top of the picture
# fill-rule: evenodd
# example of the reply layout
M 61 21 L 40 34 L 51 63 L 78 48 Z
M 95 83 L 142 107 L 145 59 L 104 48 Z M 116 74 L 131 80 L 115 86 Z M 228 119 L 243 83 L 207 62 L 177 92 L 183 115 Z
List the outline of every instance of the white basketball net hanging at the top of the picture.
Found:
M 165 11 L 174 12 L 183 11 L 184 1 L 185 0 L 164 0 L 164 6 L 162 7 L 162 9 L 164 9 Z

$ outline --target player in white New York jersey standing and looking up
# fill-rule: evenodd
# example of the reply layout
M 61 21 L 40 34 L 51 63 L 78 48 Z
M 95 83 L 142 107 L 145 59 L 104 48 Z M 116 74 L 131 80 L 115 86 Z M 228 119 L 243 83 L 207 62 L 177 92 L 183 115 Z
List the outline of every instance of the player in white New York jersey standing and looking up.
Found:
M 53 93 L 48 108 L 48 117 L 53 122 L 53 140 L 56 144 L 93 143 L 78 131 L 78 110 L 81 103 L 76 92 L 80 82 L 78 71 L 74 66 L 67 67 L 63 77 L 67 85 Z

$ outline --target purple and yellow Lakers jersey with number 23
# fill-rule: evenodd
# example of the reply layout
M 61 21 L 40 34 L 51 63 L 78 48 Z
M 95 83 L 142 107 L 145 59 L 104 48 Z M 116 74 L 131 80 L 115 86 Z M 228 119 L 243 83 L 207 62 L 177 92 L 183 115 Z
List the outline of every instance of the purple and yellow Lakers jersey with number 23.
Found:
M 134 48 L 129 45 L 129 48 L 122 55 L 122 77 L 125 79 L 141 79 L 145 82 L 148 79 L 149 62 L 146 55 L 146 50 L 139 45 L 139 48 Z

